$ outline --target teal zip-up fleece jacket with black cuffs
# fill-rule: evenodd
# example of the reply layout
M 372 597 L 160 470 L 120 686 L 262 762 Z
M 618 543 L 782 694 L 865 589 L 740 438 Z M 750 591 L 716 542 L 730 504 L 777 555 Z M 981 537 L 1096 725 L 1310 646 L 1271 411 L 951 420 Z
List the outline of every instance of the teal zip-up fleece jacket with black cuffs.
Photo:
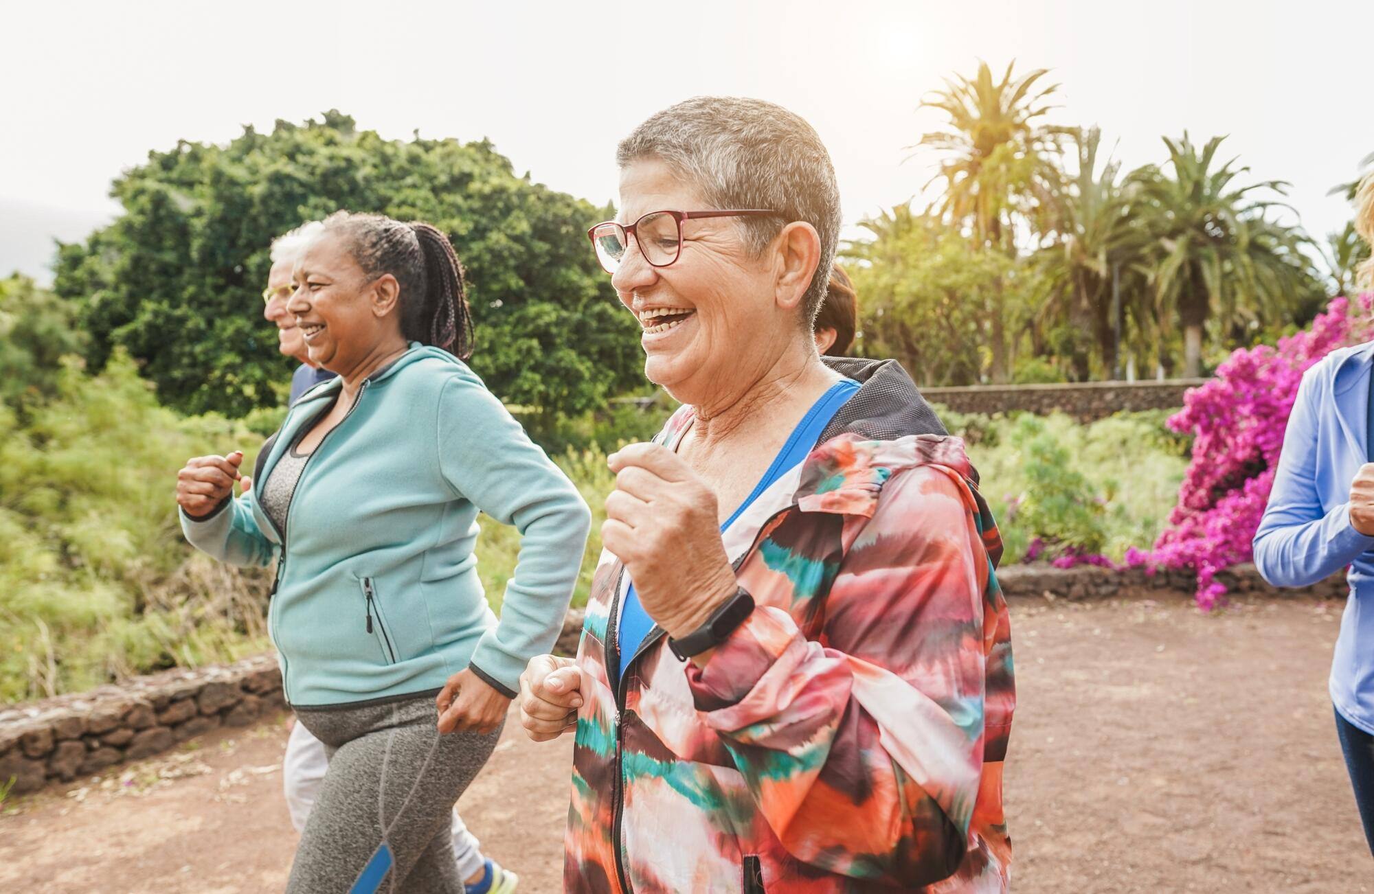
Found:
M 264 445 L 253 492 L 338 398 L 306 391 Z M 500 621 L 477 577 L 477 512 L 521 533 Z M 181 512 L 198 549 L 231 564 L 279 558 L 268 629 L 291 704 L 429 692 L 464 667 L 514 696 L 562 628 L 591 527 L 587 504 L 466 364 L 418 342 L 372 374 L 311 455 L 276 530 L 247 493 Z

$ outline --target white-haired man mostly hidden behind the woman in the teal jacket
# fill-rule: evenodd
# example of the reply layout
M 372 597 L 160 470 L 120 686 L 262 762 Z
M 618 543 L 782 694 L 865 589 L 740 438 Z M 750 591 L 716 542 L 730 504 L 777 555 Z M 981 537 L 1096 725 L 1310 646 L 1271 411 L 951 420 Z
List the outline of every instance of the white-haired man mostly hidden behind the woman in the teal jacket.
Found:
M 272 242 L 272 269 L 268 272 L 267 290 L 262 291 L 262 316 L 276 324 L 278 350 L 301 361 L 291 375 L 289 404 L 294 404 L 320 382 L 334 378 L 328 369 L 311 364 L 295 316 L 286 309 L 295 290 L 291 279 L 295 258 L 323 231 L 323 224 L 311 221 Z M 245 478 L 245 482 L 251 483 L 251 479 Z M 304 724 L 294 724 L 282 758 L 282 788 L 297 832 L 305 829 L 328 764 L 324 743 L 312 736 Z M 453 856 L 467 894 L 510 894 L 519 883 L 519 876 L 514 872 L 482 856 L 477 838 L 463 825 L 458 810 L 453 810 Z

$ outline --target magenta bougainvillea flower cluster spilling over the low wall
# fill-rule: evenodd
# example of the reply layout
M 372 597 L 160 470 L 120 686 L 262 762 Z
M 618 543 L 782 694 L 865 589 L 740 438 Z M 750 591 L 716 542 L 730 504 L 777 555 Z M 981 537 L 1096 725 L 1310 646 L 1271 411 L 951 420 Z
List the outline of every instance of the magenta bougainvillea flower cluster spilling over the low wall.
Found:
M 1374 294 L 1362 295 L 1363 313 L 1352 314 L 1349 301 L 1336 298 L 1308 330 L 1272 347 L 1238 349 L 1216 378 L 1187 393 L 1183 411 L 1168 423 L 1194 435 L 1179 503 L 1154 548 L 1127 551 L 1127 566 L 1193 569 L 1198 606 L 1212 608 L 1224 599 L 1216 575 L 1252 558 L 1303 372 L 1331 350 L 1370 336 L 1371 302 Z

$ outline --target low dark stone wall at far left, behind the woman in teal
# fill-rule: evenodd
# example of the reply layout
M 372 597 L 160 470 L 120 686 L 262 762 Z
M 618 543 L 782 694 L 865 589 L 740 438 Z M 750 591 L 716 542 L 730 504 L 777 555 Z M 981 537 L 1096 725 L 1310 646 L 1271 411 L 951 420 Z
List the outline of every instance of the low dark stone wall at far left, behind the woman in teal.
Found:
M 14 792 L 136 761 L 286 707 L 276 659 L 168 670 L 0 710 L 0 786 Z

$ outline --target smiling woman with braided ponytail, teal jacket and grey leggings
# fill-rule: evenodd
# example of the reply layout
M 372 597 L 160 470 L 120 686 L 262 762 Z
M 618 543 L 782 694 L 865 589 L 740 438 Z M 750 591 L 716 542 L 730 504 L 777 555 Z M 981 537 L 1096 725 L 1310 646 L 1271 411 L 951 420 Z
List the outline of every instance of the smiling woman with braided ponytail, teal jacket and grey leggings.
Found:
M 291 406 L 251 492 L 232 498 L 242 452 L 190 460 L 181 529 L 223 562 L 278 559 L 283 689 L 330 754 L 287 890 L 462 891 L 451 809 L 558 634 L 591 516 L 463 363 L 473 321 L 442 232 L 338 213 L 293 277 L 311 363 L 338 378 Z M 478 511 L 522 534 L 499 622 Z

